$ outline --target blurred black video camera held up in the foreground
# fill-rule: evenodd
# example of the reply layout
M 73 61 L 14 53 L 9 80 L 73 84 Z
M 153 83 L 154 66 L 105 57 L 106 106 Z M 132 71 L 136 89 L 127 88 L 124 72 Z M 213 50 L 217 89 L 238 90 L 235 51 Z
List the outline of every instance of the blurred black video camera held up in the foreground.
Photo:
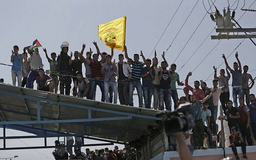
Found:
M 189 105 L 190 103 L 180 104 L 173 112 L 164 111 L 156 115 L 165 116 L 163 124 L 167 133 L 184 132 L 194 126 L 194 118 L 188 112 Z

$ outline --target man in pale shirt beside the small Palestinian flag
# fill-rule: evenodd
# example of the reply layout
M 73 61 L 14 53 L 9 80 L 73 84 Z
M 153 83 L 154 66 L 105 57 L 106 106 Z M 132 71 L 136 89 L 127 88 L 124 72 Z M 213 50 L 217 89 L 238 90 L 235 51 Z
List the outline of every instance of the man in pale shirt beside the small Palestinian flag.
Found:
M 28 51 L 30 57 L 28 58 L 26 54 L 23 54 L 23 58 L 25 60 L 25 63 L 27 65 L 30 65 L 31 68 L 28 74 L 26 88 L 33 89 L 34 81 L 36 80 L 36 77 L 39 76 L 37 69 L 43 68 L 44 65 L 42 63 L 42 58 L 39 54 L 38 48 L 36 48 L 35 50 L 30 50 L 30 46 L 27 46 L 24 49 Z

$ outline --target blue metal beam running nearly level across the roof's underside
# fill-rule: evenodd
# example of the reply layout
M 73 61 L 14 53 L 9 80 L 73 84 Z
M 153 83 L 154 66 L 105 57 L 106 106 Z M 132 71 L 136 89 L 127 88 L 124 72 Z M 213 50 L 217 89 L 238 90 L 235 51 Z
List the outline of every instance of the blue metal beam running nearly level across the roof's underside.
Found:
M 37 121 L 7 121 L 0 122 L 0 125 L 4 124 L 49 124 L 49 123 L 73 123 L 73 122 L 98 122 L 108 120 L 129 120 L 131 116 L 122 117 L 108 117 L 108 118 L 89 118 L 89 119 L 70 119 L 70 120 L 37 120 Z

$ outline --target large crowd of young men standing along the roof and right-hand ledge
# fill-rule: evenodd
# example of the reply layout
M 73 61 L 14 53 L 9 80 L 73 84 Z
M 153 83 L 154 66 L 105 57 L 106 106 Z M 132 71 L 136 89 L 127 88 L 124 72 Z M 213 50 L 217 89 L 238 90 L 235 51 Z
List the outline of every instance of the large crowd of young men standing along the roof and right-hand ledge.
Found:
M 238 52 L 235 54 L 237 62 L 233 63 L 233 68 L 229 66 L 225 55 L 222 54 L 226 69 L 221 69 L 220 75 L 217 76 L 217 68 L 213 67 L 214 79 L 210 85 L 212 87 L 208 87 L 203 80 L 194 81 L 194 87 L 192 87 L 188 83 L 192 72 L 188 72 L 185 84 L 182 83 L 176 72 L 176 64 L 171 64 L 168 69 L 169 64 L 164 53 L 162 54 L 163 61 L 158 66 L 156 51 L 152 60 L 146 59 L 142 51 L 140 55 L 134 54 L 132 59 L 128 56 L 127 48 L 124 46 L 124 54 L 119 54 L 118 62 L 116 62 L 112 61 L 113 49 L 111 49 L 111 54 L 107 54 L 100 52 L 96 42 L 93 44 L 97 53 L 93 54 L 90 49 L 84 57 L 86 45 L 83 44 L 80 52 L 74 52 L 74 59 L 72 52 L 70 56 L 68 55 L 68 42 L 62 43 L 58 56 L 52 52 L 51 58 L 48 57 L 47 50 L 44 48 L 43 51 L 50 65 L 50 75 L 44 72 L 38 48 L 32 50 L 30 46 L 27 46 L 24 47 L 23 54 L 18 54 L 19 48 L 14 46 L 11 55 L 12 85 L 15 86 L 17 80 L 18 86 L 33 88 L 34 80 L 36 80 L 38 90 L 57 93 L 59 86 L 60 94 L 70 95 L 73 81 L 73 96 L 86 97 L 90 100 L 95 100 L 98 85 L 102 102 L 116 104 L 119 98 L 120 104 L 128 106 L 134 106 L 133 94 L 136 88 L 140 108 L 143 106 L 143 101 L 145 108 L 150 109 L 153 106 L 155 110 L 164 110 L 164 108 L 172 110 L 172 100 L 174 109 L 180 104 L 191 103 L 184 106 L 184 110 L 188 110 L 194 117 L 195 126 L 192 128 L 194 149 L 205 149 L 204 133 L 208 135 L 210 148 L 214 148 L 212 136 L 217 134 L 217 119 L 228 121 L 230 135 L 233 130 L 239 131 L 243 145 L 252 145 L 250 128 L 252 128 L 254 138 L 256 137 L 256 100 L 254 94 L 250 94 L 254 79 L 248 74 L 248 66 L 242 67 Z M 140 56 L 143 62 L 140 61 Z M 82 73 L 83 64 L 85 74 Z M 229 92 L 230 73 L 232 74 L 233 102 L 230 100 Z M 185 85 L 183 89 L 185 96 L 178 98 L 176 85 Z M 217 116 L 219 100 L 224 110 L 224 117 Z M 189 137 L 190 134 L 191 132 L 186 132 L 184 136 Z M 234 142 L 233 139 L 230 142 Z M 238 140 L 238 138 L 235 139 Z M 238 143 L 231 143 L 231 146 L 236 145 Z

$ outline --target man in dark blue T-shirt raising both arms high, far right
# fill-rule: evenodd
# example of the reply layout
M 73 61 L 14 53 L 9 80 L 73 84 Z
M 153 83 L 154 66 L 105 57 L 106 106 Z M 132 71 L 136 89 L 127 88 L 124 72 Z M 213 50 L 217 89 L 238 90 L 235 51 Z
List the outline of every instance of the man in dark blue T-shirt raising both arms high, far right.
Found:
M 233 88 L 232 95 L 233 95 L 234 105 L 235 107 L 237 107 L 237 96 L 238 98 L 243 97 L 243 89 L 242 89 L 242 65 L 240 60 L 238 59 L 238 52 L 236 52 L 235 56 L 238 63 L 234 62 L 233 64 L 234 70 L 232 70 L 230 66 L 228 66 L 228 61 L 225 55 L 222 54 L 222 58 L 225 61 L 226 67 L 232 74 L 232 88 Z M 238 66 L 239 66 L 239 69 L 238 69 Z

